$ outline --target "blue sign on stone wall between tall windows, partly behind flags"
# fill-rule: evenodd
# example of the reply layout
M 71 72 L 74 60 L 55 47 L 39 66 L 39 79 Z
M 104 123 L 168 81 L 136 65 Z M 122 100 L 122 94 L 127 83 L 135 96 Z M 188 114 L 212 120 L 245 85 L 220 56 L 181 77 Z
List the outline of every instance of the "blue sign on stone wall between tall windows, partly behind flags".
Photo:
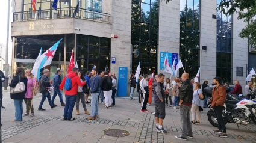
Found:
M 160 52 L 160 70 L 163 70 L 164 65 L 164 59 L 166 57 L 167 52 Z M 168 62 L 170 65 L 172 65 L 174 59 L 175 59 L 175 66 L 178 63 L 178 53 L 168 53 Z

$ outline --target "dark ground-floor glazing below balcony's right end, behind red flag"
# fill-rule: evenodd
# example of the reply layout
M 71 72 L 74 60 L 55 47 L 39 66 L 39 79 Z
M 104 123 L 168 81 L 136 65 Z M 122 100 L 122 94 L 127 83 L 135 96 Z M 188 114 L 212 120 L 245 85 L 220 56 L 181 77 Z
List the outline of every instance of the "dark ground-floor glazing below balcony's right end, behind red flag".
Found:
M 81 71 L 91 71 L 93 66 L 101 72 L 110 69 L 110 38 L 77 35 L 76 60 Z

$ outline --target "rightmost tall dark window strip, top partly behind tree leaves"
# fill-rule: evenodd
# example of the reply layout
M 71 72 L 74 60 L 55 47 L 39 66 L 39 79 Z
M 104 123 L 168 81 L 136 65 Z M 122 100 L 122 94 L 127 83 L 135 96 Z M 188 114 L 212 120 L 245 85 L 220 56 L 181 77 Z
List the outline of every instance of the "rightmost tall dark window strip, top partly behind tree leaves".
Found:
M 221 0 L 217 0 L 219 6 Z M 230 6 L 231 7 L 231 6 Z M 225 11 L 229 8 L 225 7 Z M 232 83 L 232 16 L 217 10 L 217 76 Z

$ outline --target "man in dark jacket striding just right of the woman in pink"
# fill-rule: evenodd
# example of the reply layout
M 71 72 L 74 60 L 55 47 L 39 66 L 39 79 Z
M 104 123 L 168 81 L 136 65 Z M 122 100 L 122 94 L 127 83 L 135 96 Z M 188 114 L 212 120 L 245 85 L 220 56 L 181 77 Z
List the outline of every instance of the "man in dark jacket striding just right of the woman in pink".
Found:
M 40 78 L 40 92 L 42 93 L 42 100 L 40 102 L 38 111 L 45 111 L 45 109 L 42 108 L 43 102 L 45 102 L 45 99 L 47 97 L 49 105 L 52 108 L 55 108 L 57 105 L 52 104 L 51 100 L 51 93 L 48 91 L 48 88 L 51 87 L 50 81 L 48 76 L 50 75 L 50 71 L 48 69 L 43 70 L 43 75 Z

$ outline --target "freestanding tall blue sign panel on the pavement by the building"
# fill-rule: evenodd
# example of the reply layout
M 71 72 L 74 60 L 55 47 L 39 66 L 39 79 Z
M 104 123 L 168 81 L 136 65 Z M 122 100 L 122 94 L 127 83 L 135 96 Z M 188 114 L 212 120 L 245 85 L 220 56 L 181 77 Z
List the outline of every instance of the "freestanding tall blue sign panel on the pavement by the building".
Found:
M 128 67 L 119 67 L 117 96 L 119 97 L 127 96 L 127 83 L 128 83 Z

